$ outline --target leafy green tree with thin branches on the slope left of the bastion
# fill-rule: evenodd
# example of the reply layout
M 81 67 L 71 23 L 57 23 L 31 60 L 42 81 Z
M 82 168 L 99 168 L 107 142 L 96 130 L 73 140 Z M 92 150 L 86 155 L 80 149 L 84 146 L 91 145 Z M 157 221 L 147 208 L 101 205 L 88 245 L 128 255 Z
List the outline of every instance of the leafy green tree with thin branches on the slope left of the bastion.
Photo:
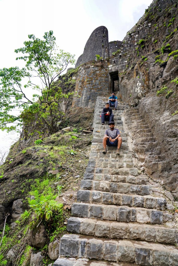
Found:
M 54 81 L 75 63 L 74 55 L 58 50 L 53 31 L 45 32 L 43 40 L 33 34 L 28 37 L 24 47 L 15 50 L 21 54 L 16 60 L 24 60 L 25 67 L 0 69 L 0 128 L 17 130 L 35 118 L 53 134 L 62 115 L 59 104 L 71 95 L 62 93 Z M 27 97 L 30 89 L 37 92 L 32 99 Z

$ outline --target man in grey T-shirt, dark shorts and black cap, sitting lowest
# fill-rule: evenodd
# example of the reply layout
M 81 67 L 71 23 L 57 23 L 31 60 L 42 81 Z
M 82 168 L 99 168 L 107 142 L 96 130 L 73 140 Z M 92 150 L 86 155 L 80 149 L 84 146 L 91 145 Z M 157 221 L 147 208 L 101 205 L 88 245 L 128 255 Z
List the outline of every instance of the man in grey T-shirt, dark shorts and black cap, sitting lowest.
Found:
M 109 129 L 106 129 L 103 137 L 103 153 L 107 152 L 107 146 L 117 146 L 116 154 L 120 154 L 119 149 L 122 144 L 122 138 L 120 136 L 120 131 L 114 128 L 114 122 L 109 122 Z

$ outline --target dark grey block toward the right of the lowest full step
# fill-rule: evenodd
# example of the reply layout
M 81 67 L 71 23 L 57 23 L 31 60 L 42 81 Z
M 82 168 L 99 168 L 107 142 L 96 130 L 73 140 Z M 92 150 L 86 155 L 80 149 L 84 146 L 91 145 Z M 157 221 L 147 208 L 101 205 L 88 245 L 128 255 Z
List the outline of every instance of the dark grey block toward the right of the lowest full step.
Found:
M 135 262 L 140 265 L 153 265 L 153 252 L 148 248 L 136 248 Z

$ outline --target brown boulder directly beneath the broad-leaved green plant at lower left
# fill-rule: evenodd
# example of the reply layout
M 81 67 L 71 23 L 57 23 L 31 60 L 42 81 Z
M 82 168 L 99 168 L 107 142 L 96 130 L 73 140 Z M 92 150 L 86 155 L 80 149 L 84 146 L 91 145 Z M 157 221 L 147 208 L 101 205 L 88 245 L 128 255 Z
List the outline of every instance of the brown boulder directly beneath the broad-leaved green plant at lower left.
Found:
M 30 247 L 43 248 L 46 245 L 47 233 L 44 225 L 39 225 L 38 228 L 29 230 L 28 244 Z

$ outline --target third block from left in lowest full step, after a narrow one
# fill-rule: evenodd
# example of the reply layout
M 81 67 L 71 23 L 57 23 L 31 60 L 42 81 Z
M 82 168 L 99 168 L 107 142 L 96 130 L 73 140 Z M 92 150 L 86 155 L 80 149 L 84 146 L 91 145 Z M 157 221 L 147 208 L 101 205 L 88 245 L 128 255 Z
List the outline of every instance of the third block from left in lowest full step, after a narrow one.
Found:
M 89 259 L 102 259 L 103 242 L 102 240 L 89 239 L 87 244 L 86 256 Z

